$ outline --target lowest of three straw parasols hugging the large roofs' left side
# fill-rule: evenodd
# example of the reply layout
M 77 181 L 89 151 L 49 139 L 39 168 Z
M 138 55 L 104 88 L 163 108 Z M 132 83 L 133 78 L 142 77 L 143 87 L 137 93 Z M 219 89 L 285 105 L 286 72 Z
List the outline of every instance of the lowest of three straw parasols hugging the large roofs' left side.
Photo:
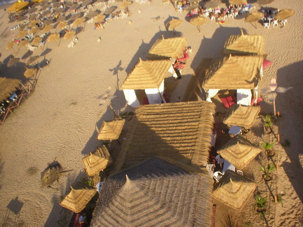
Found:
M 60 205 L 78 213 L 85 208 L 85 205 L 95 196 L 96 189 L 85 183 L 77 182 L 67 196 L 60 202 Z

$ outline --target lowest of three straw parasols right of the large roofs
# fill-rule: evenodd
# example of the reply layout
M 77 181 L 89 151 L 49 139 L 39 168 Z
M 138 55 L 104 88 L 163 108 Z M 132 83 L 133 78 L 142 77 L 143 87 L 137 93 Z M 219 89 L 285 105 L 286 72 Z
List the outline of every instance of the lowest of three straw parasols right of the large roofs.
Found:
M 228 169 L 215 185 L 213 196 L 228 206 L 240 209 L 256 187 L 251 179 Z

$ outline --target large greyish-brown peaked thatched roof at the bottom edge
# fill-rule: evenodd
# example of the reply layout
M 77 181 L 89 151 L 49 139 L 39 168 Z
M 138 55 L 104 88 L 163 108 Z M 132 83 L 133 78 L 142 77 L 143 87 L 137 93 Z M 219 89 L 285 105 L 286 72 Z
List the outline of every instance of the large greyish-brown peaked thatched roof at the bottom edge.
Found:
M 105 180 L 91 226 L 210 227 L 212 184 L 205 172 L 151 158 Z

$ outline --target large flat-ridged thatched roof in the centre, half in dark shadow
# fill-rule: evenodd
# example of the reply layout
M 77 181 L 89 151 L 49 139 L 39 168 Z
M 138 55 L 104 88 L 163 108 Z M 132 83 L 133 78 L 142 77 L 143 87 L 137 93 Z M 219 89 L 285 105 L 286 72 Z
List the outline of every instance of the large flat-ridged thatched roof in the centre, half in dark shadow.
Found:
M 198 166 L 207 162 L 214 104 L 206 101 L 138 107 L 116 161 L 116 170 L 167 156 Z

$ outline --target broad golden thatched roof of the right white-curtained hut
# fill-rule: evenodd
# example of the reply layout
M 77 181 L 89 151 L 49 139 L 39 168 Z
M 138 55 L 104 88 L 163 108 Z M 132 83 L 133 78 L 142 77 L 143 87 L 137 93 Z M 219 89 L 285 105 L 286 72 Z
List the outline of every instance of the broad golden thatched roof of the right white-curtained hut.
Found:
M 206 73 L 205 89 L 253 89 L 258 84 L 263 57 L 229 56 L 214 59 Z

